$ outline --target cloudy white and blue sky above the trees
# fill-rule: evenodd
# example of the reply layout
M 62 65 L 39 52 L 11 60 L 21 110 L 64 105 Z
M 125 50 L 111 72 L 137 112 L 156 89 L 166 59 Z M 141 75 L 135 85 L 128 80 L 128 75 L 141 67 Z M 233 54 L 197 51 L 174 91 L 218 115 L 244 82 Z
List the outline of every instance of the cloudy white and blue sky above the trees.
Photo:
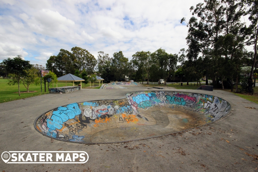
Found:
M 160 47 L 175 54 L 187 49 L 188 27 L 180 20 L 188 21 L 190 7 L 200 2 L 0 0 L 0 62 L 22 55 L 31 64 L 45 66 L 60 49 L 71 51 L 75 46 L 95 58 L 99 51 L 110 57 L 122 51 L 130 60 L 137 51 Z

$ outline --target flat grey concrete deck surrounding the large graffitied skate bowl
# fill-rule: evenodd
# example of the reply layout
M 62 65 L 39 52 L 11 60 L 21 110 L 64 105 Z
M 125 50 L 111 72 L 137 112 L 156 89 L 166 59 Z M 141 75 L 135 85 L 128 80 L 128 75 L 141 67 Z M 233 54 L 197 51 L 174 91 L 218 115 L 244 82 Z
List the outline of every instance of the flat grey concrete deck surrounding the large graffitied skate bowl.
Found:
M 233 108 L 221 120 L 178 134 L 118 144 L 84 145 L 58 140 L 51 143 L 50 138 L 34 129 L 33 122 L 39 115 L 58 106 L 122 99 L 125 93 L 146 89 L 82 89 L 1 103 L 0 153 L 86 151 L 89 160 L 85 164 L 44 165 L 5 164 L 0 160 L 0 171 L 257 171 L 258 104 L 221 90 L 182 90 L 221 97 Z

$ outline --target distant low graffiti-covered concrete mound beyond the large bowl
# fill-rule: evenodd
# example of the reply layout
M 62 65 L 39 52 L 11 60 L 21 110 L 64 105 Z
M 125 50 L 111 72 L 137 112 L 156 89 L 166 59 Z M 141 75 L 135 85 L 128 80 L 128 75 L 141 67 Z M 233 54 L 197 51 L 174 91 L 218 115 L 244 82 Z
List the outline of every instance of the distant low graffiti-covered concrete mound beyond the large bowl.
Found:
M 126 89 L 129 87 L 141 87 L 142 85 L 137 82 L 110 82 L 108 84 L 102 84 L 99 89 Z

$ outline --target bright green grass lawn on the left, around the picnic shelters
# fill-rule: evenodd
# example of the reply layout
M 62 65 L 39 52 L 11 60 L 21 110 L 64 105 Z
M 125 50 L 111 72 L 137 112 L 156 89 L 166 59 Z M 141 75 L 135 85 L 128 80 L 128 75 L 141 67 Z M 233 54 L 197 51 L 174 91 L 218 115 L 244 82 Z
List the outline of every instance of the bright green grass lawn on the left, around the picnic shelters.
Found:
M 18 85 L 7 85 L 7 83 L 8 83 L 8 79 L 2 79 L 2 78 L 0 79 L 0 103 L 9 102 L 9 101 L 13 101 L 13 100 L 19 100 L 19 99 L 25 99 L 28 97 L 33 97 L 33 96 L 38 96 L 38 95 L 49 93 L 48 91 L 45 93 L 44 82 L 43 82 L 42 83 L 42 93 L 40 90 L 40 85 L 36 86 L 36 85 L 31 84 L 29 86 L 29 91 L 36 91 L 36 92 L 21 93 L 21 96 L 19 96 Z M 65 82 L 57 82 L 58 87 L 63 87 L 65 85 L 66 85 Z M 100 85 L 101 85 L 101 83 L 100 83 Z M 47 86 L 47 83 L 46 83 L 46 86 Z M 73 86 L 73 83 L 67 82 L 67 86 Z M 88 83 L 86 85 L 82 84 L 82 88 L 86 88 L 89 86 L 90 86 L 90 83 Z M 50 84 L 49 87 L 53 88 L 53 85 Z M 56 84 L 54 84 L 54 87 L 56 87 Z M 92 88 L 98 89 L 99 87 L 92 87 Z M 47 90 L 47 88 L 46 88 L 46 90 Z M 27 91 L 27 89 L 24 87 L 24 85 L 20 84 L 20 91 Z

